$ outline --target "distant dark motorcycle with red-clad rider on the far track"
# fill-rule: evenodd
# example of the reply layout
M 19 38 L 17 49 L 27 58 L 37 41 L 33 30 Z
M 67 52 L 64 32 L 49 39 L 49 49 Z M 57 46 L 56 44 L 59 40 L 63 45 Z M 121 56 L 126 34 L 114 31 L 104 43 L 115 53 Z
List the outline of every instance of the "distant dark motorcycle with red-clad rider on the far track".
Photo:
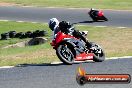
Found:
M 89 16 L 93 19 L 93 21 L 108 21 L 108 19 L 104 16 L 103 11 L 101 10 L 91 10 L 88 12 Z

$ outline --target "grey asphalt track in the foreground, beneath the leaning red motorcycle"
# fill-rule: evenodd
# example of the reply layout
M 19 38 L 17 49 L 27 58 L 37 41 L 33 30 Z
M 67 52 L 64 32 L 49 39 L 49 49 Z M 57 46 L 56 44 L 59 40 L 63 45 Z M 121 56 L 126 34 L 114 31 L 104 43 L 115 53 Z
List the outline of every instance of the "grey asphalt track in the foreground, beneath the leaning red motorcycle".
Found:
M 87 62 L 82 66 L 88 74 L 130 74 L 132 58 Z M 80 64 L 29 64 L 0 69 L 0 88 L 81 88 L 76 82 Z M 130 84 L 86 84 L 82 88 L 131 88 Z

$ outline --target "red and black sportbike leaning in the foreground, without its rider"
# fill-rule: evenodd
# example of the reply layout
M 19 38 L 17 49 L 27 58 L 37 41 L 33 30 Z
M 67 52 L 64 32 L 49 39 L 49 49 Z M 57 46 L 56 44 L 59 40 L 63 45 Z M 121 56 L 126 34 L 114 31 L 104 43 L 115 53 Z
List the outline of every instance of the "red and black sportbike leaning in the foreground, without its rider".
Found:
M 85 36 L 85 32 L 80 32 Z M 56 38 L 51 42 L 51 46 L 56 50 L 58 58 L 65 64 L 72 64 L 75 61 L 93 60 L 102 62 L 105 60 L 105 54 L 102 48 L 89 42 L 92 46 L 87 48 L 85 42 L 72 35 L 58 32 Z

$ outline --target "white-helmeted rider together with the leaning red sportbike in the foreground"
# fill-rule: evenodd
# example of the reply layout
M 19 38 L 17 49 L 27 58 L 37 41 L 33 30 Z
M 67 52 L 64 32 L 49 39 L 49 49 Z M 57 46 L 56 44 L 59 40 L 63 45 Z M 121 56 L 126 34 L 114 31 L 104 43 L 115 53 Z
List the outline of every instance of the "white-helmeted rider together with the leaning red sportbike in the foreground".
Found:
M 73 24 L 59 22 L 53 18 L 49 21 L 49 28 L 54 33 L 54 39 L 50 44 L 64 64 L 87 60 L 104 61 L 105 53 L 102 48 L 95 42 L 89 42 L 83 32 L 75 30 Z

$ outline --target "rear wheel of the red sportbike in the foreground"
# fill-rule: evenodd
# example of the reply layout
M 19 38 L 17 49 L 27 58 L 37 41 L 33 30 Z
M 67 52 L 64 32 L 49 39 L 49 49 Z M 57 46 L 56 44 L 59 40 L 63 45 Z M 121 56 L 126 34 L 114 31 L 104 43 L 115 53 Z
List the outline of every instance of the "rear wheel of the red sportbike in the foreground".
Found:
M 96 43 L 90 42 L 92 47 L 95 47 L 96 50 L 93 51 L 94 56 L 93 56 L 93 61 L 95 62 L 102 62 L 105 60 L 105 53 L 104 50 Z M 101 53 L 99 53 L 101 52 Z

